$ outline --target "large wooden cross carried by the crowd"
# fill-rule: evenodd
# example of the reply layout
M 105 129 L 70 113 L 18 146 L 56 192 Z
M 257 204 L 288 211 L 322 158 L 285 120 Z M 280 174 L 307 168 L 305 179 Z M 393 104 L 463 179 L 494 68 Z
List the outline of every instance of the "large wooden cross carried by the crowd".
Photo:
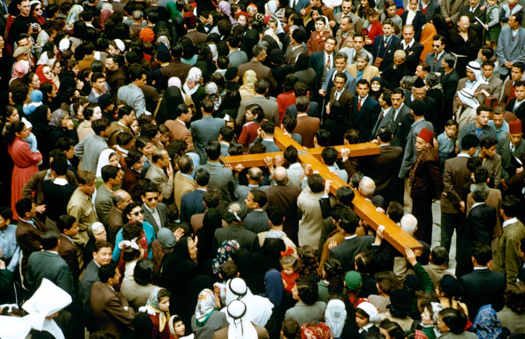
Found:
M 293 140 L 289 135 L 284 134 L 279 128 L 275 129 L 274 140 L 281 150 L 285 150 L 286 147 L 290 145 L 296 147 L 299 153 L 299 161 L 302 164 L 311 165 L 312 169 L 318 171 L 325 180 L 330 180 L 332 182 L 330 185 L 330 192 L 333 195 L 335 195 L 335 192 L 339 187 L 349 186 L 337 174 L 330 172 L 328 168 L 319 161 L 323 150 L 322 148 L 305 150 L 300 144 Z M 341 157 L 340 150 L 343 147 L 350 150 L 351 157 L 373 155 L 381 152 L 379 145 L 374 143 L 334 146 L 334 148 L 339 151 L 339 157 Z M 230 164 L 233 167 L 237 164 L 242 164 L 244 167 L 258 167 L 265 166 L 266 157 L 271 157 L 275 161 L 275 157 L 278 155 L 282 156 L 282 152 L 226 156 L 221 158 L 221 160 L 225 164 Z M 355 192 L 355 198 L 353 199 L 352 204 L 355 213 L 361 219 L 366 221 L 366 224 L 370 225 L 373 229 L 377 229 L 379 225 L 385 226 L 383 232 L 384 238 L 398 251 L 403 253 L 403 255 L 406 248 L 411 248 L 414 252 L 416 250 L 423 250 L 423 246 L 421 246 L 417 240 L 403 231 L 401 227 L 397 226 L 385 214 L 377 212 L 375 206 L 365 200 L 365 198 L 363 198 L 358 192 Z

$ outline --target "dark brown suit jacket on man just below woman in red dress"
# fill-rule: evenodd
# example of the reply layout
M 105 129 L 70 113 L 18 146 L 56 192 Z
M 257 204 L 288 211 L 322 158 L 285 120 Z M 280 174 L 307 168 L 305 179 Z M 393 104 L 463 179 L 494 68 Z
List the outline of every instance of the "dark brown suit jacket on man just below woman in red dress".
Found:
M 18 219 L 16 227 L 16 243 L 22 250 L 22 275 L 27 273 L 27 260 L 33 252 L 40 251 L 40 235 L 46 230 L 46 226 L 37 218 L 33 219 L 35 226 Z

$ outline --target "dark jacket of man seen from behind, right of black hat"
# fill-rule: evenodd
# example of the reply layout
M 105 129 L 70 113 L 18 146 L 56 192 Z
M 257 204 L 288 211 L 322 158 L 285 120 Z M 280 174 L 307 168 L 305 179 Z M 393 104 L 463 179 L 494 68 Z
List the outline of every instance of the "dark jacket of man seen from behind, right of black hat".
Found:
M 470 319 L 474 319 L 483 305 L 491 304 L 496 312 L 503 308 L 506 283 L 502 273 L 489 269 L 474 270 L 460 277 L 459 284 L 463 287 L 461 301 L 467 305 Z

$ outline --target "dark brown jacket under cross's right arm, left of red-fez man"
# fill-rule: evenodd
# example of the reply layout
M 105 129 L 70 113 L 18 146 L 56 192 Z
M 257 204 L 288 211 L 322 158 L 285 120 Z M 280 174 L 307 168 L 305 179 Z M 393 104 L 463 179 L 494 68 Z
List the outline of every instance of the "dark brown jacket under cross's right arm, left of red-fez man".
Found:
M 375 182 L 374 194 L 385 199 L 385 206 L 394 200 L 395 179 L 403 156 L 403 149 L 391 145 L 382 145 L 381 153 L 360 158 L 363 174 Z

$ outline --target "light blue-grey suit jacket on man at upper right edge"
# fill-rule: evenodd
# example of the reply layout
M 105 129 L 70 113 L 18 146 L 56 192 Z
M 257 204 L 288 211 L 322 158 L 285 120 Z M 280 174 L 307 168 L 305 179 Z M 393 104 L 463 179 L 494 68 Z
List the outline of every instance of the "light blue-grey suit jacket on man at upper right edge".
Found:
M 498 49 L 496 55 L 499 60 L 499 72 L 502 75 L 509 73 L 510 69 L 503 66 L 505 62 L 525 61 L 525 28 L 518 29 L 516 39 L 512 39 L 512 29 L 502 27 L 498 39 Z

